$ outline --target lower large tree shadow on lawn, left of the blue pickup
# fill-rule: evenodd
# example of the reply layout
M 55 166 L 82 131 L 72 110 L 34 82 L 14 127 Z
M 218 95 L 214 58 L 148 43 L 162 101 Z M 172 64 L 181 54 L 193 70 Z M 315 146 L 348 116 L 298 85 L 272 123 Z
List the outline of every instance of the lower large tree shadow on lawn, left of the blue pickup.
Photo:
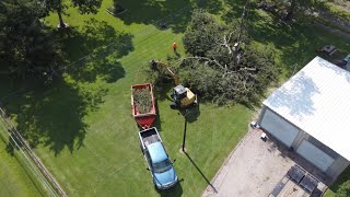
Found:
M 67 148 L 72 153 L 83 146 L 89 128 L 83 117 L 103 103 L 106 93 L 102 86 L 59 82 L 24 94 L 21 105 L 9 104 L 7 109 L 16 115 L 18 130 L 33 148 L 48 147 L 55 155 Z

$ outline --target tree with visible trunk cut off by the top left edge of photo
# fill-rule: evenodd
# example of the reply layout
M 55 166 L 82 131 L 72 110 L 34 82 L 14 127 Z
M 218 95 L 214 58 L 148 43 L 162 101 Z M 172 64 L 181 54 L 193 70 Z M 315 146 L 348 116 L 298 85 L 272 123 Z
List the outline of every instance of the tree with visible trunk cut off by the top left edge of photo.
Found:
M 49 12 L 57 12 L 59 19 L 59 27 L 66 27 L 62 14 L 69 7 L 78 7 L 80 13 L 97 13 L 102 0 L 38 0 L 42 8 Z

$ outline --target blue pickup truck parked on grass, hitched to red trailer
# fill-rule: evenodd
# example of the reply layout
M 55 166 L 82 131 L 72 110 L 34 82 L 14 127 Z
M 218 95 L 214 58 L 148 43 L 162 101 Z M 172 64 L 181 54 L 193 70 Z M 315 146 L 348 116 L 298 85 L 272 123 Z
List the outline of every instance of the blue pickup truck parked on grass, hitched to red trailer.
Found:
M 140 146 L 158 189 L 176 185 L 177 176 L 155 127 L 139 132 Z

